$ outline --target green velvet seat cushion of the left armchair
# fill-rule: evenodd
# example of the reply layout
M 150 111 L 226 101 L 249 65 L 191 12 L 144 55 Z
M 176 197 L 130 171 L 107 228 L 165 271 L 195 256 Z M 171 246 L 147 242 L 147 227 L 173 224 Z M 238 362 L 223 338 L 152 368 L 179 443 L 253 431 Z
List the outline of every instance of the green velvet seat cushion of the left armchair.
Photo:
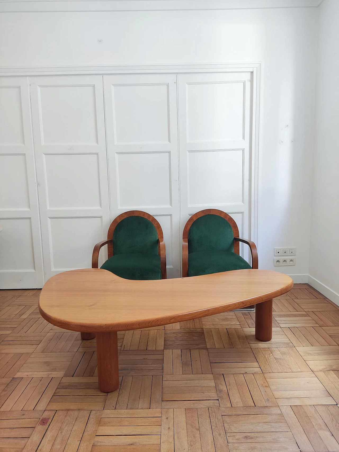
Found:
M 125 279 L 161 279 L 157 254 L 117 254 L 107 259 L 101 268 Z

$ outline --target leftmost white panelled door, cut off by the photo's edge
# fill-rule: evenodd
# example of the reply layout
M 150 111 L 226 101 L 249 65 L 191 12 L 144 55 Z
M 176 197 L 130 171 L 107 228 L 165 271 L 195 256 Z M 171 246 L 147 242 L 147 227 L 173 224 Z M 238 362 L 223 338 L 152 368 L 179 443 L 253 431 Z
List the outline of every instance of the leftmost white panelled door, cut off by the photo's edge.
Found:
M 0 79 L 0 289 L 43 285 L 27 77 Z

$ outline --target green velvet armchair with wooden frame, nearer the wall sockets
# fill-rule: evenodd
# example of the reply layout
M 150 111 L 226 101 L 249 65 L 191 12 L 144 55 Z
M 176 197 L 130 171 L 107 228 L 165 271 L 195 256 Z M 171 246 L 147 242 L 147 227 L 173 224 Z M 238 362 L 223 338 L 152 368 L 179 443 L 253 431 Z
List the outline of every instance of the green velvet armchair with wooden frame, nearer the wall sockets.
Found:
M 239 242 L 250 246 L 252 266 L 239 255 Z M 183 277 L 258 268 L 257 248 L 241 239 L 232 217 L 217 209 L 195 213 L 183 232 Z

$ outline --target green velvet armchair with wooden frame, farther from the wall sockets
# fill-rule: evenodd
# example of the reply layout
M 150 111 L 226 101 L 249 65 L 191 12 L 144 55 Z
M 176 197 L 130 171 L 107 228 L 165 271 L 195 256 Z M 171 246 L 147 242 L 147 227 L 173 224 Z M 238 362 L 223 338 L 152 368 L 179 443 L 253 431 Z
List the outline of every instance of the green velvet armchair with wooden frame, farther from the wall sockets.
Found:
M 94 246 L 92 268 L 98 268 L 104 245 L 108 245 L 108 259 L 100 268 L 125 279 L 166 279 L 164 235 L 150 214 L 132 210 L 115 218 L 107 240 Z

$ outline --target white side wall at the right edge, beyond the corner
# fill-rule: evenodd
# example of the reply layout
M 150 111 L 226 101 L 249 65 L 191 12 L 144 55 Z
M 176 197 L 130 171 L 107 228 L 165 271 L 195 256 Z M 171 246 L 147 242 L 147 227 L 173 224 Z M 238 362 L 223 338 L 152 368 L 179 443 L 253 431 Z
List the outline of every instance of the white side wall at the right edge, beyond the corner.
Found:
M 339 304 L 339 2 L 319 7 L 310 283 Z

